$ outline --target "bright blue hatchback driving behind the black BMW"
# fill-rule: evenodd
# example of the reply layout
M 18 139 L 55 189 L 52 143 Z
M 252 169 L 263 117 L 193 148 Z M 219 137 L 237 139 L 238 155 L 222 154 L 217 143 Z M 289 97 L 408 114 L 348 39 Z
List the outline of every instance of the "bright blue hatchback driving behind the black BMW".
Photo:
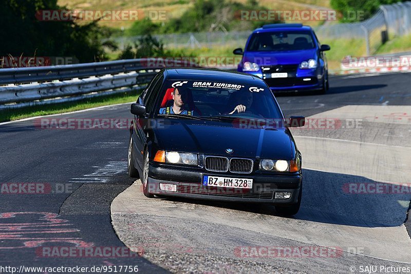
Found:
M 274 91 L 328 90 L 328 67 L 324 51 L 314 31 L 302 24 L 270 24 L 255 29 L 243 51 L 239 72 L 263 79 Z

